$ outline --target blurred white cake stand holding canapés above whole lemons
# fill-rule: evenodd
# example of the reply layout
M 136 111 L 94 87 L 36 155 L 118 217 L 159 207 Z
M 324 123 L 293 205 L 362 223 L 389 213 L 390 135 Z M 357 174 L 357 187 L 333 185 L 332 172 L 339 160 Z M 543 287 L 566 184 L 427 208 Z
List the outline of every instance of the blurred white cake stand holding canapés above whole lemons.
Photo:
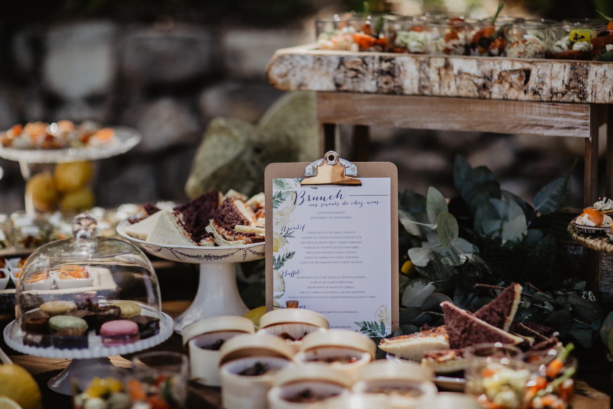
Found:
M 0 145 L 0 158 L 19 162 L 21 176 L 27 182 L 35 171 L 49 168 L 50 164 L 96 161 L 111 158 L 116 155 L 125 154 L 128 150 L 139 144 L 141 139 L 139 131 L 128 127 L 110 128 L 115 130 L 116 140 L 105 146 L 66 149 L 15 149 Z M 32 198 L 28 197 L 27 194 L 25 197 L 25 207 L 28 214 L 34 214 Z

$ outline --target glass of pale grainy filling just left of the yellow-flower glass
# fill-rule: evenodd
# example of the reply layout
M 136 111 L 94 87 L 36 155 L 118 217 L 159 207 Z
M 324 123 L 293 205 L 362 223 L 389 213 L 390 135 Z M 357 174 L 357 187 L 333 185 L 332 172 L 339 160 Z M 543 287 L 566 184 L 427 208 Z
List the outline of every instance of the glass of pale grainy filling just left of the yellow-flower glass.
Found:
M 549 26 L 543 23 L 516 23 L 507 31 L 506 56 L 545 58 L 549 49 Z

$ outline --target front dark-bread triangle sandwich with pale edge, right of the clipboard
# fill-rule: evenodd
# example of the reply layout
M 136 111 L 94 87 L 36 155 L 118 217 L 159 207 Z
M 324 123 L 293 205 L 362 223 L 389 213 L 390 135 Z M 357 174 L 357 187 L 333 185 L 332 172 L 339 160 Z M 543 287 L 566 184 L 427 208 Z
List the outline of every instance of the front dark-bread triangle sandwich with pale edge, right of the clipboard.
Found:
M 494 327 L 448 301 L 442 302 L 441 307 L 451 349 L 466 348 L 481 343 L 500 342 L 517 345 L 524 342 L 523 338 Z

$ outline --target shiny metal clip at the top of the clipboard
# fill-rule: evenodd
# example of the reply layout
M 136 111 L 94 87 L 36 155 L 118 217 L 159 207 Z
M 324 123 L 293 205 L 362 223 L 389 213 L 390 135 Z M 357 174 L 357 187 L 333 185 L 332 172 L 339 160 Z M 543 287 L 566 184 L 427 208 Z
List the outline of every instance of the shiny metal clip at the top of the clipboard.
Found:
M 338 157 L 337 152 L 329 150 L 324 158 L 310 163 L 305 168 L 305 176 L 313 176 L 303 179 L 301 185 L 353 185 L 361 186 L 362 182 L 355 177 L 357 166 L 348 160 Z

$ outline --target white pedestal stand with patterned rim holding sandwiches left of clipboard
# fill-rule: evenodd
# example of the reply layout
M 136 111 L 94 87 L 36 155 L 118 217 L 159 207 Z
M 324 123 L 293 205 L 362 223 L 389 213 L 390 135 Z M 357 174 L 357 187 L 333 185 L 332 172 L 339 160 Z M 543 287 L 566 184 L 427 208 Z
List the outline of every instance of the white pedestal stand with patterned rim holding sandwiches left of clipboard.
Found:
M 149 254 L 181 263 L 200 264 L 200 281 L 194 302 L 175 319 L 175 332 L 209 317 L 243 315 L 248 308 L 238 294 L 234 263 L 264 258 L 264 243 L 242 246 L 173 246 L 138 240 L 126 234 L 128 220 L 117 226 L 117 233 Z

